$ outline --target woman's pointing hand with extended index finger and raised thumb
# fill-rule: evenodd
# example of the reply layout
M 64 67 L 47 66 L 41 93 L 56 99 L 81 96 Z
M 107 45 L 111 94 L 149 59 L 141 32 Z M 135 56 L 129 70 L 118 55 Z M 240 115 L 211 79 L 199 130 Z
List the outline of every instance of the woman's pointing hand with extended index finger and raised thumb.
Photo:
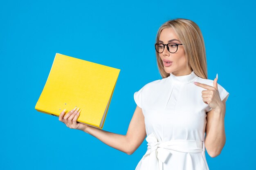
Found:
M 202 91 L 202 98 L 205 104 L 209 104 L 211 109 L 218 110 L 223 106 L 223 103 L 220 99 L 220 93 L 218 91 L 218 75 L 213 80 L 213 86 L 209 86 L 207 84 L 202 84 L 199 82 L 194 82 L 195 85 L 205 88 L 207 90 Z

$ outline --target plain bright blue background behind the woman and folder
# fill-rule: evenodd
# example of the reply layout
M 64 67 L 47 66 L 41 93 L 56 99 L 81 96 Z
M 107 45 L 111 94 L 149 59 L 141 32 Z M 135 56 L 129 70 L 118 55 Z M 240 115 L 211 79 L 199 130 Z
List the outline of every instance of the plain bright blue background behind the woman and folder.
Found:
M 35 110 L 56 53 L 121 69 L 103 130 L 125 135 L 133 94 L 161 79 L 155 36 L 175 18 L 193 20 L 204 36 L 209 79 L 229 93 L 226 144 L 207 154 L 210 170 L 252 169 L 255 162 L 255 1 L 0 1 L 1 170 L 134 170 L 132 154 L 67 128 Z M 92 44 L 96 44 L 92 46 Z

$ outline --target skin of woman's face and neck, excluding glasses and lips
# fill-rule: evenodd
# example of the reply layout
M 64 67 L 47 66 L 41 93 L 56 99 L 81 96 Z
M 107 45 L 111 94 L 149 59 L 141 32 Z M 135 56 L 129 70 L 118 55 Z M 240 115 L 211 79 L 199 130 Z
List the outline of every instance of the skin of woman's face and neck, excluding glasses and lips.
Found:
M 164 44 L 168 44 L 170 42 L 182 44 L 172 28 L 165 28 L 162 30 L 159 36 L 159 42 Z M 186 54 L 183 45 L 178 45 L 178 50 L 175 53 L 170 53 L 167 47 L 164 46 L 164 51 L 159 53 L 159 56 L 164 64 L 164 70 L 166 73 L 173 73 L 176 76 L 181 76 L 188 75 L 192 72 L 191 67 L 186 66 Z M 164 60 L 171 61 L 171 65 L 165 66 L 166 63 Z

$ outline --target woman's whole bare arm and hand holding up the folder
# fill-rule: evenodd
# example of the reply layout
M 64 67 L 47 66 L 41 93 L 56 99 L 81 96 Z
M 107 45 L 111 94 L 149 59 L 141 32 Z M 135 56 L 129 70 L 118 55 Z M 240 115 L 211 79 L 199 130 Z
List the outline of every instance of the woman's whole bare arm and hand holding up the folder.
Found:
M 63 115 L 60 115 L 59 120 L 65 124 L 68 124 L 68 122 L 72 124 L 73 122 L 72 127 L 78 127 L 76 124 L 76 120 L 78 118 L 76 113 L 77 112 L 70 113 L 69 115 L 66 114 L 67 116 L 64 118 Z M 139 106 L 137 106 L 135 109 L 126 135 L 119 135 L 92 126 L 83 127 L 84 128 L 81 128 L 80 130 L 83 130 L 84 132 L 96 137 L 104 144 L 107 144 L 112 148 L 125 152 L 128 155 L 131 155 L 133 152 L 135 152 L 135 150 L 137 150 L 137 148 L 141 145 L 146 137 L 144 115 L 142 113 L 142 109 Z

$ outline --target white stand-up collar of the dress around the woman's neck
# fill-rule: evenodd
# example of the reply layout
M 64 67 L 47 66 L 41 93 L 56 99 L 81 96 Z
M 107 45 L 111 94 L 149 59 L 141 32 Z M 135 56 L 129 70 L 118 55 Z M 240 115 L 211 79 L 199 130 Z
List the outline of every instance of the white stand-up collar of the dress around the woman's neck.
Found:
M 171 82 L 175 82 L 178 84 L 188 84 L 194 81 L 196 78 L 198 78 L 198 76 L 195 74 L 194 71 L 192 71 L 189 75 L 181 75 L 181 76 L 176 76 L 173 73 L 171 73 L 170 76 L 168 77 L 168 79 Z

